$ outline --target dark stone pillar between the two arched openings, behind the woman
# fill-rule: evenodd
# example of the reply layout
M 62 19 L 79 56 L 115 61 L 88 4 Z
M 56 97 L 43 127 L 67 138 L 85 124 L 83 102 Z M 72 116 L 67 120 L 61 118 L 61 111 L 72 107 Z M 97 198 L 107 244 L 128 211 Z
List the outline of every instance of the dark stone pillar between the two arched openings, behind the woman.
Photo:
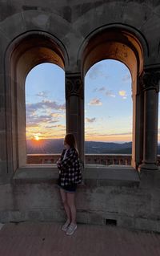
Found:
M 74 133 L 84 162 L 84 87 L 80 73 L 66 73 L 66 132 Z

